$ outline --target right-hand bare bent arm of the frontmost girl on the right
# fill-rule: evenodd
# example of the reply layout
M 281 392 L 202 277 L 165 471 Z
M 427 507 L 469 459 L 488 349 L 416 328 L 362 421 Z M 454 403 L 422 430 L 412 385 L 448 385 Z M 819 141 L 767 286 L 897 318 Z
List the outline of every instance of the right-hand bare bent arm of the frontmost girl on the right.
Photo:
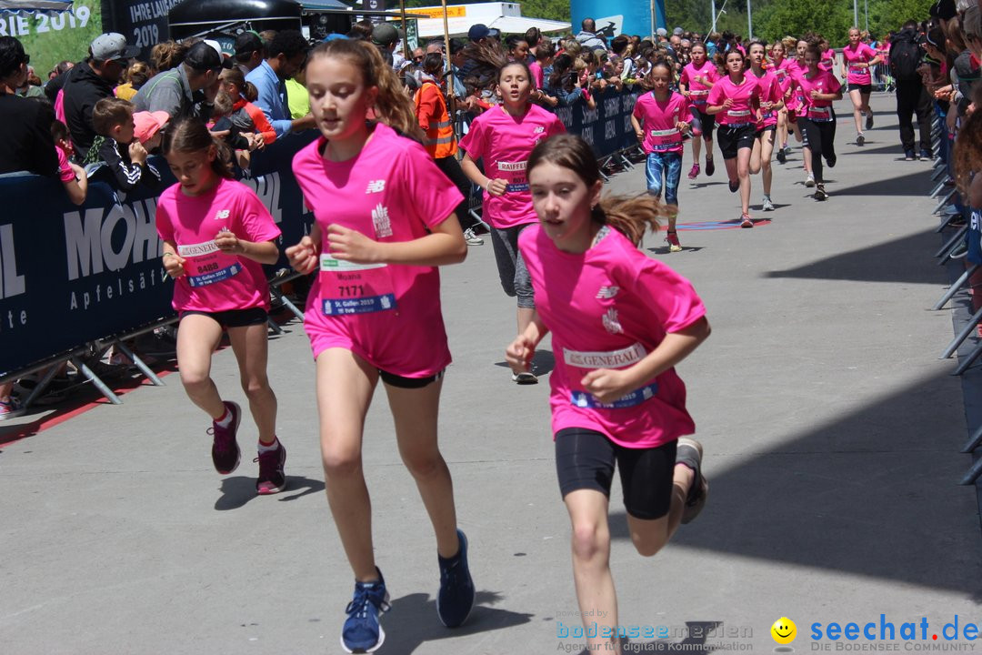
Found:
M 620 370 L 598 368 L 584 375 L 580 384 L 601 403 L 616 401 L 678 364 L 709 337 L 710 331 L 703 316 L 679 332 L 665 335 L 658 348 L 636 364 Z

